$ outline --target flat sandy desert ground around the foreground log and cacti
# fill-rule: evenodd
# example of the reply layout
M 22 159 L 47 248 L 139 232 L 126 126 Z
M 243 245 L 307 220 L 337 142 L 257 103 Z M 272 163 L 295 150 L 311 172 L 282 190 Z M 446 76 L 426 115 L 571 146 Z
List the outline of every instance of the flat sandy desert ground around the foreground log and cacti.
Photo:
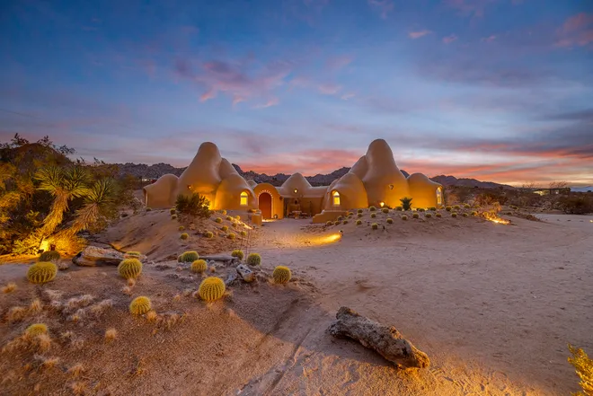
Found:
M 386 216 L 394 224 L 385 224 Z M 50 309 L 4 319 L 3 345 L 32 321 L 46 322 L 56 342 L 43 355 L 61 363 L 49 372 L 22 366 L 35 359 L 33 351 L 4 352 L 0 394 L 34 394 L 36 387 L 39 394 L 72 394 L 74 383 L 89 394 L 113 395 L 574 392 L 578 378 L 566 362 L 566 344 L 593 353 L 593 217 L 538 216 L 545 221 L 511 216 L 509 226 L 447 216 L 371 220 L 368 213 L 358 226 L 266 223 L 247 250 L 262 255 L 261 279 L 288 265 L 294 281 L 232 286 L 232 296 L 210 305 L 184 295 L 200 277 L 175 262 L 147 262 L 132 295 L 121 292 L 125 281 L 115 268 L 70 268 L 46 286 L 31 286 L 23 279 L 26 266 L 0 266 L 3 283 L 18 286 L 0 295 L 3 319 L 10 306 L 35 297 L 48 306 L 47 289 L 61 291 L 53 298 L 62 302 L 83 294 L 113 302 L 109 312 L 77 323 L 68 320 L 71 312 Z M 343 237 L 331 242 L 340 230 Z M 231 269 L 216 274 L 226 277 Z M 163 323 L 174 314 L 182 320 L 168 329 L 131 317 L 127 305 L 137 295 L 153 299 Z M 333 339 L 326 329 L 341 305 L 393 324 L 429 354 L 429 369 L 401 372 L 355 342 Z M 110 327 L 119 338 L 105 344 Z M 64 330 L 84 347 L 62 340 Z M 77 362 L 87 371 L 75 379 L 66 370 Z

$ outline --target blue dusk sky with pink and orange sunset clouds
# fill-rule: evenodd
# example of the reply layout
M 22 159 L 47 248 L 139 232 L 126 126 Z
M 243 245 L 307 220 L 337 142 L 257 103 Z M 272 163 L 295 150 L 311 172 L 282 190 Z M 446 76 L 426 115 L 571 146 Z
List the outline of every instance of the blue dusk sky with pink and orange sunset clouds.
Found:
M 384 138 L 400 169 L 593 185 L 593 2 L 0 4 L 0 142 L 186 166 L 332 172 Z

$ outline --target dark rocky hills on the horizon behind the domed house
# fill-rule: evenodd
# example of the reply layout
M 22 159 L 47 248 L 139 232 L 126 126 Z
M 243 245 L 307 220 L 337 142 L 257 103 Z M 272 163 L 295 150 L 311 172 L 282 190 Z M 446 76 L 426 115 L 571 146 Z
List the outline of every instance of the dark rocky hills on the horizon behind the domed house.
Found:
M 168 163 L 155 163 L 154 165 L 146 165 L 146 163 L 118 163 L 121 174 L 130 174 L 136 177 L 146 179 L 158 179 L 164 174 L 172 173 L 174 175 L 181 175 L 185 168 L 175 168 Z M 266 173 L 257 173 L 253 171 L 243 171 L 241 167 L 233 163 L 236 171 L 239 172 L 246 180 L 255 180 L 258 183 L 270 183 L 273 186 L 281 186 L 284 181 L 290 177 L 286 173 L 277 173 L 275 175 L 268 175 Z M 350 168 L 343 167 L 328 174 L 318 173 L 314 176 L 305 176 L 312 186 L 329 186 L 333 180 L 340 179 L 343 175 L 348 173 Z M 409 176 L 408 172 L 402 170 L 405 177 Z M 511 186 L 499 184 L 492 181 L 480 181 L 475 179 L 457 179 L 455 176 L 439 175 L 432 180 L 441 183 L 444 186 L 465 186 L 465 187 L 479 187 L 482 189 L 498 189 L 500 186 L 506 189 L 512 189 Z

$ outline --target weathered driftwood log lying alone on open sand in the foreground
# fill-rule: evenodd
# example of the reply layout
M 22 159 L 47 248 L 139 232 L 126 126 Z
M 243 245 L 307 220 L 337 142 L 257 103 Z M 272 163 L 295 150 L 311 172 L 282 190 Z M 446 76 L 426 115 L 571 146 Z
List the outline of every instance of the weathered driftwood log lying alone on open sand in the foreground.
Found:
M 402 334 L 393 326 L 371 321 L 345 306 L 338 310 L 336 318 L 338 320 L 328 329 L 332 336 L 356 339 L 400 368 L 422 368 L 430 365 L 429 356 L 415 348 L 407 339 L 403 339 Z

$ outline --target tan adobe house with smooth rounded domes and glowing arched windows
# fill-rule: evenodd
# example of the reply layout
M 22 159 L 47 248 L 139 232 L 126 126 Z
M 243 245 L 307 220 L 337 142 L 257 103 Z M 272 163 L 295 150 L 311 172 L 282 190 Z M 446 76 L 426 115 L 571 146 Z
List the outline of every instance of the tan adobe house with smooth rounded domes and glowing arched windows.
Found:
M 404 197 L 412 198 L 412 207 L 444 204 L 443 186 L 421 173 L 406 178 L 383 139 L 373 141 L 350 172 L 329 187 L 313 187 L 300 173 L 279 188 L 247 181 L 220 155 L 217 145 L 203 143 L 179 178 L 165 174 L 144 188 L 146 207 L 173 207 L 178 195 L 194 192 L 206 196 L 211 209 L 250 212 L 256 224 L 288 215 L 313 216 L 314 223 L 324 223 L 351 209 L 398 207 Z

